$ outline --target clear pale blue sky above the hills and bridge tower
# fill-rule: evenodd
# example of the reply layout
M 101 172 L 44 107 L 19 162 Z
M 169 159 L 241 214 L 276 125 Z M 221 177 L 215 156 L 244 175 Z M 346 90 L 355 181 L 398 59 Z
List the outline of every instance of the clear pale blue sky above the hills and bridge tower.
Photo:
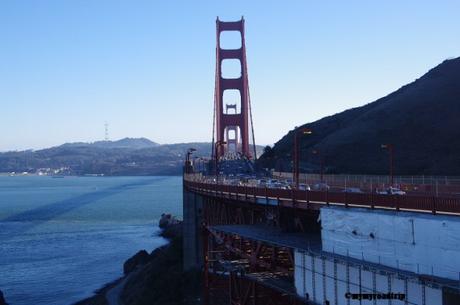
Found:
M 0 151 L 210 141 L 215 19 L 246 19 L 256 142 L 460 56 L 460 1 L 0 1 Z

